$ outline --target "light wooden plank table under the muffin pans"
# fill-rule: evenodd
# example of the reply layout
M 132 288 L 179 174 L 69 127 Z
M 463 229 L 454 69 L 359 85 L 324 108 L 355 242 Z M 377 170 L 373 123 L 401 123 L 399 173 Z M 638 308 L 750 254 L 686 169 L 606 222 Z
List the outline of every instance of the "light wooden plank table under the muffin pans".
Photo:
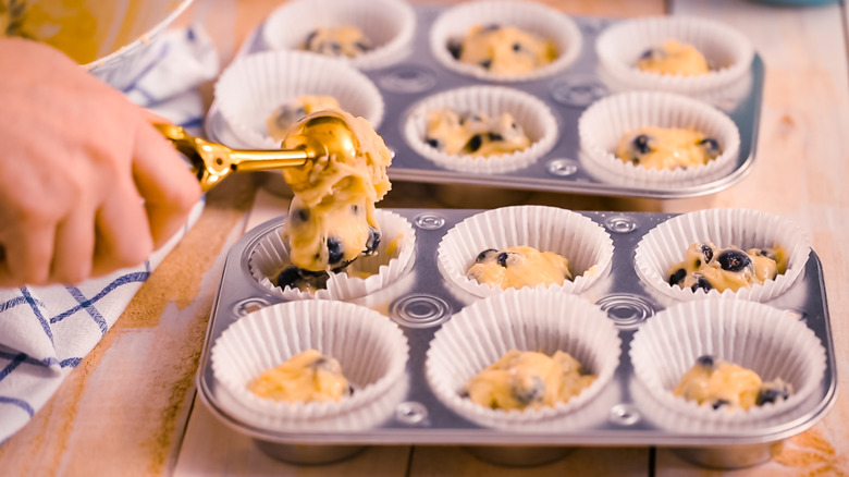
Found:
M 206 0 L 182 22 L 202 23 L 224 64 L 279 2 Z M 417 2 L 418 3 L 418 2 Z M 446 1 L 443 3 L 455 3 Z M 692 14 L 747 35 L 766 78 L 759 159 L 741 183 L 712 197 L 618 199 L 538 193 L 528 204 L 586 210 L 685 212 L 747 207 L 808 229 L 822 259 L 841 392 L 848 384 L 849 78 L 846 13 L 840 5 L 780 8 L 741 0 L 640 0 L 547 3 L 570 14 Z M 207 89 L 209 96 L 210 89 Z M 297 467 L 273 461 L 229 429 L 196 399 L 195 374 L 229 246 L 254 224 L 285 211 L 280 200 L 236 176 L 209 194 L 199 222 L 156 270 L 102 342 L 35 418 L 0 448 L 3 475 L 714 475 L 668 450 L 581 448 L 530 469 L 496 467 L 453 447 L 376 447 L 341 464 Z M 424 186 L 405 184 L 381 207 L 441 207 Z M 771 462 L 728 473 L 746 476 L 849 474 L 849 400 L 840 399 Z

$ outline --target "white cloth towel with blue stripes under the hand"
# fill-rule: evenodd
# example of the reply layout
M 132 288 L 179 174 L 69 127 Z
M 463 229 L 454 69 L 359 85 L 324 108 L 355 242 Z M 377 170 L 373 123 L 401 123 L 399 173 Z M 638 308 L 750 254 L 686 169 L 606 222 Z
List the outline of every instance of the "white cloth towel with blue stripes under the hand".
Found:
M 120 87 L 135 103 L 198 134 L 198 86 L 219 72 L 218 53 L 196 25 L 164 32 Z M 195 223 L 198 203 L 177 234 L 138 267 L 77 285 L 0 289 L 0 445 L 26 425 L 95 347 L 142 283 Z

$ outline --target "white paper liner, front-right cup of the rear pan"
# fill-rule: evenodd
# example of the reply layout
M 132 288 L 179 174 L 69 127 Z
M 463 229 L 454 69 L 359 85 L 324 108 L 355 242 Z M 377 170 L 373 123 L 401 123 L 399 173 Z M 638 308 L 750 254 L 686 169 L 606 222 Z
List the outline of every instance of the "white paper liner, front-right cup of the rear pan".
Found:
M 718 140 L 715 159 L 698 168 L 647 169 L 616 157 L 626 134 L 643 126 L 693 129 Z M 686 96 L 661 91 L 622 93 L 590 106 L 578 120 L 581 161 L 602 181 L 675 189 L 705 184 L 730 173 L 740 152 L 740 132 L 728 115 Z

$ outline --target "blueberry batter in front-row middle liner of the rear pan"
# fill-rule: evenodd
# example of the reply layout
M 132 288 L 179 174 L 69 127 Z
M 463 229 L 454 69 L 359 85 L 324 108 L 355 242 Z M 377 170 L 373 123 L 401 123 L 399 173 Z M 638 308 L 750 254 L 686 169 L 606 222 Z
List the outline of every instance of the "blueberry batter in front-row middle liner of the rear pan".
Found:
M 531 142 L 513 115 L 428 111 L 424 142 L 447 155 L 499 156 L 526 149 Z

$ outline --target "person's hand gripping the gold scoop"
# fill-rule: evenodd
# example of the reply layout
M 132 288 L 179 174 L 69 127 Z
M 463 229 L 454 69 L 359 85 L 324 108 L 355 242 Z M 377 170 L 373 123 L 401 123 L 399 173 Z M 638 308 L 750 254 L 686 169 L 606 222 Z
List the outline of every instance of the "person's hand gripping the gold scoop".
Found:
M 46 45 L 0 39 L 0 286 L 143 262 L 200 197 L 147 112 Z

